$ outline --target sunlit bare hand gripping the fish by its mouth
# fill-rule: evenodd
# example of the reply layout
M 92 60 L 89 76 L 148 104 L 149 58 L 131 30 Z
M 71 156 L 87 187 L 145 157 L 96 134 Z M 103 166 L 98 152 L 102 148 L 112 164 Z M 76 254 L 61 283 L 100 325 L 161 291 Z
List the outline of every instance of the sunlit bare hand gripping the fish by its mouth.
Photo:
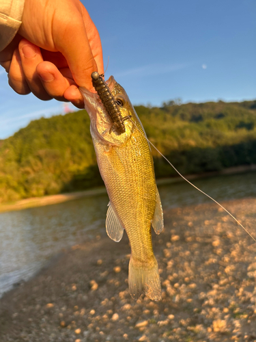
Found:
M 91 73 L 104 73 L 100 36 L 79 0 L 25 0 L 22 25 L 1 51 L 0 64 L 18 94 L 79 108 L 77 87 L 90 90 Z

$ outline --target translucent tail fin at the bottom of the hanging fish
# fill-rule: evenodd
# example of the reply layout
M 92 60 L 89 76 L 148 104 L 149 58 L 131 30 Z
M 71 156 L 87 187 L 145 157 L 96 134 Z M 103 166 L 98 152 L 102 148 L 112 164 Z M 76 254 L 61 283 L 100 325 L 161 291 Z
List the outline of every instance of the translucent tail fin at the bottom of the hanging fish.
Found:
M 158 264 L 154 257 L 153 263 L 137 265 L 130 257 L 129 263 L 129 289 L 133 299 L 138 299 L 141 293 L 145 293 L 151 300 L 161 299 L 161 284 L 158 273 Z

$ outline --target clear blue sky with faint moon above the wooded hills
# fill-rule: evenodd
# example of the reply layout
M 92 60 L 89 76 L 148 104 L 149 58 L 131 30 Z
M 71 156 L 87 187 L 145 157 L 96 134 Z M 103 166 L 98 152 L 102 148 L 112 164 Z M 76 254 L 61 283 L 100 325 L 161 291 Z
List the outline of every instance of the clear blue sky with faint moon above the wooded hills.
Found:
M 256 98 L 255 0 L 82 1 L 102 40 L 106 77 L 133 104 Z M 20 96 L 0 68 L 0 139 L 63 103 Z M 70 105 L 70 109 L 74 109 Z

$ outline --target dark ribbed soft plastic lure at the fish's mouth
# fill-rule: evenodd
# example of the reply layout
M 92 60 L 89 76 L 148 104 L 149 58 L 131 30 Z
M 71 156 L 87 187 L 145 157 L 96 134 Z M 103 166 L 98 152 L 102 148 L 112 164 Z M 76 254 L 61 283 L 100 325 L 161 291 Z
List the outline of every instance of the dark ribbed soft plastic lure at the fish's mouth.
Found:
M 113 128 L 111 131 L 115 131 L 118 135 L 124 133 L 126 127 L 124 126 L 124 119 L 122 118 L 121 111 L 119 111 L 118 108 L 118 105 L 122 105 L 122 103 L 119 103 L 118 100 L 115 101 L 109 87 L 97 71 L 94 71 L 94 73 L 91 74 L 91 79 L 98 96 L 100 96 L 102 104 L 113 121 Z

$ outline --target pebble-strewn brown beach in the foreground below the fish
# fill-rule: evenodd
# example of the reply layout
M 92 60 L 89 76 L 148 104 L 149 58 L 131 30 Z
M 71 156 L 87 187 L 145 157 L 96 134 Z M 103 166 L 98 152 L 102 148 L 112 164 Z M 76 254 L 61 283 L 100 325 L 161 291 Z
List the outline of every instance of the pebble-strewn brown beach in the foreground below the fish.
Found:
M 256 199 L 222 203 L 256 235 Z M 162 300 L 134 301 L 130 248 L 73 246 L 0 299 L 0 341 L 256 341 L 256 244 L 214 204 L 165 212 L 152 233 Z

